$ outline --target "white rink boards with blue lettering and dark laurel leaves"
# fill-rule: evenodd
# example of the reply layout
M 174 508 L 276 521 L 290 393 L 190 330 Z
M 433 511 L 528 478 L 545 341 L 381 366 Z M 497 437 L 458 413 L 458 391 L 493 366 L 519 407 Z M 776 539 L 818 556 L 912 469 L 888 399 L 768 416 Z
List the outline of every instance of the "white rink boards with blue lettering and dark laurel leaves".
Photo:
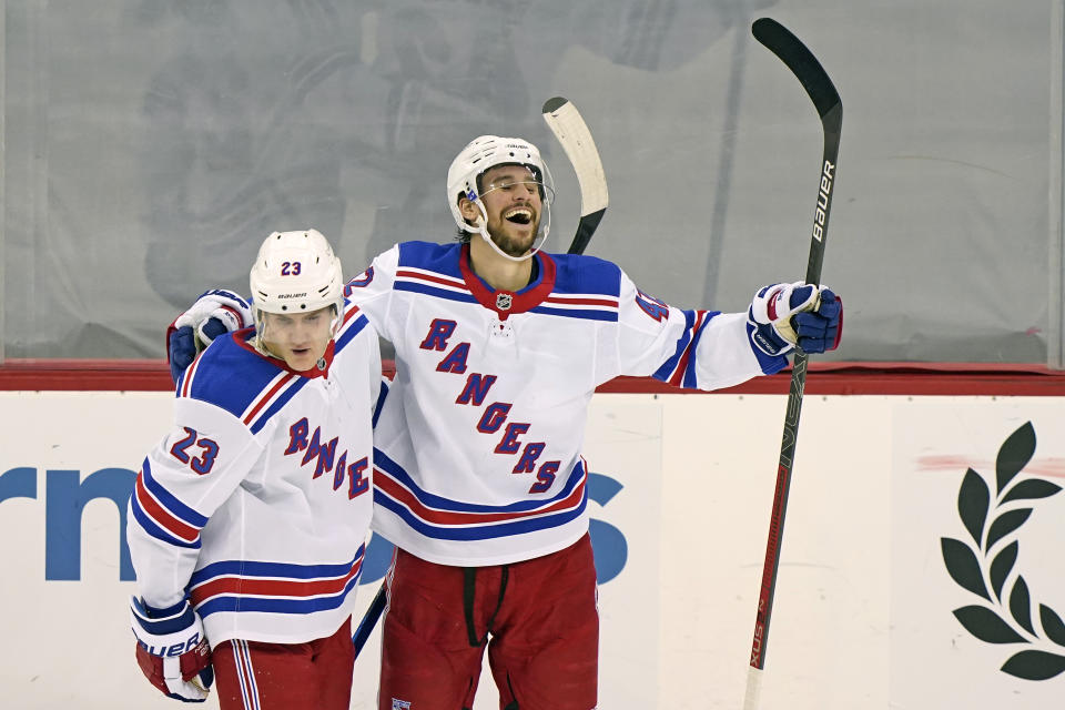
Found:
M 740 707 L 784 404 L 594 398 L 600 708 Z M 170 407 L 165 393 L 0 393 L 6 706 L 174 707 L 133 659 L 121 536 Z M 1059 702 L 1063 432 L 1059 397 L 808 396 L 761 707 Z M 361 607 L 387 558 L 372 547 Z M 378 651 L 375 633 L 353 708 L 375 707 Z M 497 707 L 490 684 L 475 710 Z

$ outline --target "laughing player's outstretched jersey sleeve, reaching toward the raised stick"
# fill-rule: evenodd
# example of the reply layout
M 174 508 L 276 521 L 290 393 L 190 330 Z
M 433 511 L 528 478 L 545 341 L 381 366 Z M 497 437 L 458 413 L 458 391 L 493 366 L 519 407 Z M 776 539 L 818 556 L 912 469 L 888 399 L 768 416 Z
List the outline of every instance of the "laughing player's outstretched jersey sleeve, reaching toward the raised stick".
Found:
M 682 311 L 645 294 L 623 272 L 620 278 L 618 374 L 719 389 L 788 364 L 753 346 L 747 314 Z

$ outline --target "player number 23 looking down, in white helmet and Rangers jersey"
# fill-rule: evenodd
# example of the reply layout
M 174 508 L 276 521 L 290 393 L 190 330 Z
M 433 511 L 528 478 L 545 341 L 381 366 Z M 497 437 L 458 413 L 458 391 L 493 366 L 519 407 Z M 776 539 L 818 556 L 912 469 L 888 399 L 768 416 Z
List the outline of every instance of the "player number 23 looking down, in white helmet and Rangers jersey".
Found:
M 251 310 L 229 307 L 254 328 L 178 379 L 174 427 L 136 477 L 136 660 L 180 700 L 214 677 L 222 710 L 346 710 L 378 338 L 314 230 L 271 234 L 251 288 Z

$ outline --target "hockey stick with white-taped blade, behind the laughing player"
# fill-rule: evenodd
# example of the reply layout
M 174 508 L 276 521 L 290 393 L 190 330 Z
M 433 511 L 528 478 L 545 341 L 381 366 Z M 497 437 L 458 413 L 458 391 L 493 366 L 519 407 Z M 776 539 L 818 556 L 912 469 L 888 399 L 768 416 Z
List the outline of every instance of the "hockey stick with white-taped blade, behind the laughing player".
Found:
M 607 176 L 602 172 L 602 161 L 599 160 L 599 151 L 596 150 L 596 142 L 591 140 L 588 125 L 578 113 L 577 106 L 568 99 L 548 99 L 544 103 L 544 121 L 562 144 L 562 150 L 577 173 L 577 184 L 580 186 L 580 222 L 577 223 L 577 233 L 568 253 L 582 254 L 607 211 Z M 386 597 L 385 584 L 382 582 L 352 636 L 355 658 L 358 658 L 359 651 L 377 626 L 381 613 L 385 610 Z

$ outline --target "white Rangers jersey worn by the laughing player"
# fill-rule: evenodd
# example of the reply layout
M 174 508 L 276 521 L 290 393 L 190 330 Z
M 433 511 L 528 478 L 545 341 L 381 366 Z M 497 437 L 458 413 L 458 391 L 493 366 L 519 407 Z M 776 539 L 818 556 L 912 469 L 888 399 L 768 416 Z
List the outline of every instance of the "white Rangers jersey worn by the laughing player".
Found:
M 532 283 L 500 292 L 471 272 L 468 246 L 405 242 L 345 290 L 396 352 L 375 429 L 374 529 L 424 559 L 507 564 L 579 539 L 598 385 L 636 375 L 713 389 L 787 364 L 751 345 L 746 314 L 670 307 L 591 256 L 535 258 Z

